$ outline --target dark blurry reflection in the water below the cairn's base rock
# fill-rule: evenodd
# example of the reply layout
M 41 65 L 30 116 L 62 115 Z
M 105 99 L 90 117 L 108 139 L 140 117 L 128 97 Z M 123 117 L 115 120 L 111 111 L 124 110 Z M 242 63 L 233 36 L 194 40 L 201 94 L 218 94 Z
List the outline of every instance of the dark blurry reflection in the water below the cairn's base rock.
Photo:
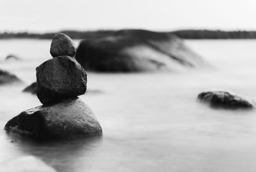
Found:
M 102 144 L 102 136 L 72 141 L 34 141 L 17 134 L 8 136 L 10 144 L 13 141 L 15 148 L 23 155 L 38 157 L 57 171 L 73 171 L 77 163 L 84 161 L 84 154 L 93 154 Z

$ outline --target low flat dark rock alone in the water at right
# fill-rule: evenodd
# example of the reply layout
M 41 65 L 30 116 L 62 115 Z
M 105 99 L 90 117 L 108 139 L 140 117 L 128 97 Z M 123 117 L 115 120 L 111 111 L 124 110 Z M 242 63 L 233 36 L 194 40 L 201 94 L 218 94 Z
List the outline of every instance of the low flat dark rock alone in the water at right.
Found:
M 241 96 L 226 91 L 208 91 L 198 95 L 198 100 L 210 104 L 212 108 L 251 109 L 253 103 Z

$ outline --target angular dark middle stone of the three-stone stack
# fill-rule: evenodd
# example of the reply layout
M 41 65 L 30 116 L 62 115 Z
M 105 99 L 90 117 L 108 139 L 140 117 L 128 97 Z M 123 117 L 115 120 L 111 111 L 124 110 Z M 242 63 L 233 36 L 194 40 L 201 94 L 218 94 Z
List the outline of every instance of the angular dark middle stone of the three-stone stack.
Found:
M 76 97 L 86 92 L 86 72 L 76 59 L 59 56 L 36 68 L 36 95 L 41 103 L 63 97 Z

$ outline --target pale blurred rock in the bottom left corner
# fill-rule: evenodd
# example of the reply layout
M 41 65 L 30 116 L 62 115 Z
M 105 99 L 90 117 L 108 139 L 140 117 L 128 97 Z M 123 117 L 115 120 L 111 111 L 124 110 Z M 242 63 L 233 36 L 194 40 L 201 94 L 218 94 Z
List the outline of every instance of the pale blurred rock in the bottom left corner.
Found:
M 56 172 L 41 159 L 33 156 L 15 157 L 0 163 L 1 172 Z

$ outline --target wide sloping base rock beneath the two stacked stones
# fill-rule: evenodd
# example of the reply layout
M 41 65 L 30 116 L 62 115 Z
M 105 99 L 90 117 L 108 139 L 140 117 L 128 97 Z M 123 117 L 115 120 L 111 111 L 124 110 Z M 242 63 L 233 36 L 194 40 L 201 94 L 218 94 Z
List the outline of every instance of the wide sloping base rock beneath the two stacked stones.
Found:
M 6 131 L 35 139 L 77 139 L 102 134 L 92 110 L 79 98 L 23 111 L 7 122 Z

